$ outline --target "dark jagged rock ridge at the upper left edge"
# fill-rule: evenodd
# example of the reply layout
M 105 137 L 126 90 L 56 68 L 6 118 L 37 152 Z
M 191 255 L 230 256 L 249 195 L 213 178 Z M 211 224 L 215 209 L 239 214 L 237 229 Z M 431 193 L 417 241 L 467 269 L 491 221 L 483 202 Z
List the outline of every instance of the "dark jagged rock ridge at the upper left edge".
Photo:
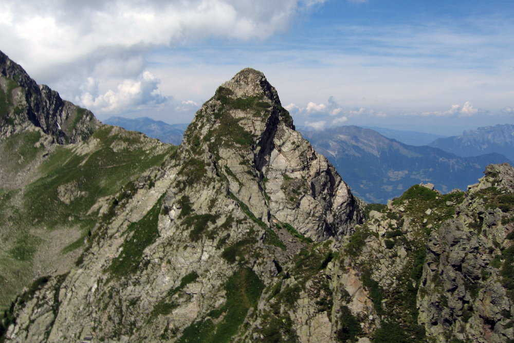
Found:
M 89 110 L 62 100 L 46 85 L 38 85 L 25 70 L 0 51 L 0 137 L 28 123 L 40 127 L 59 144 L 86 140 L 99 125 Z

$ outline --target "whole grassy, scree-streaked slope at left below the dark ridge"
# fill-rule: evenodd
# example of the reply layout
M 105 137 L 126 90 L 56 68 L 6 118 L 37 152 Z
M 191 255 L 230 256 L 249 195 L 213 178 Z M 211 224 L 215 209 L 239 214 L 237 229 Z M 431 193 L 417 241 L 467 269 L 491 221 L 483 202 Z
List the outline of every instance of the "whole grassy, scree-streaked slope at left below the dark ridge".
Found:
M 39 161 L 44 151 L 34 143 L 40 135 L 37 131 L 22 132 L 0 142 L 4 160 L 11 161 L 4 166 L 6 172 Z M 41 255 L 38 253 L 53 254 L 53 258 L 62 255 L 64 260 L 76 258 L 77 250 L 98 220 L 98 212 L 88 214 L 91 206 L 102 197 L 116 194 L 145 170 L 160 165 L 176 149 L 110 126 L 100 128 L 86 144 L 94 140 L 95 148 L 84 155 L 78 154 L 74 145 L 57 146 L 45 159 L 36 162 L 35 181 L 20 189 L 0 191 L 0 310 L 38 276 L 33 265 L 45 264 L 33 260 Z M 6 159 L 9 156 L 13 158 Z M 74 195 L 69 204 L 60 199 L 60 186 Z M 44 232 L 55 237 L 50 233 L 56 230 L 62 232 L 57 235 L 63 237 L 62 241 L 45 237 Z M 70 241 L 69 237 L 78 239 Z

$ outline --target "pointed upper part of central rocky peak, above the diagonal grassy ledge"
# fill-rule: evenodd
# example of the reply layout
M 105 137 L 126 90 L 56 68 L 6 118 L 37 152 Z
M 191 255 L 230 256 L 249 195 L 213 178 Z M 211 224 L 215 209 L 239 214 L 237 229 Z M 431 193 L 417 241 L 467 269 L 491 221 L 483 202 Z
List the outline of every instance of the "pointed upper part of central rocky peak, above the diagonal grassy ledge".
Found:
M 179 189 L 221 176 L 227 193 L 266 225 L 287 223 L 320 241 L 349 234 L 361 220 L 346 183 L 295 130 L 277 90 L 255 69 L 216 89 L 196 112 L 180 152 L 187 167 Z

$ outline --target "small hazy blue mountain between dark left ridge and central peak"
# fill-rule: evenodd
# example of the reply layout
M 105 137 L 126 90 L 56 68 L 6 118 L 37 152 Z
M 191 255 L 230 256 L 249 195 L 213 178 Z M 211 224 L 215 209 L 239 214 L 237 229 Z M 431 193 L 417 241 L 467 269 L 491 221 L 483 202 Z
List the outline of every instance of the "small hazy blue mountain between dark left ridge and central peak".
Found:
M 123 127 L 126 130 L 139 131 L 146 136 L 157 138 L 163 143 L 174 145 L 180 144 L 182 134 L 188 127 L 188 124 L 167 124 L 163 121 L 156 121 L 148 117 L 128 119 L 123 117 L 111 117 L 105 121 L 105 124 Z

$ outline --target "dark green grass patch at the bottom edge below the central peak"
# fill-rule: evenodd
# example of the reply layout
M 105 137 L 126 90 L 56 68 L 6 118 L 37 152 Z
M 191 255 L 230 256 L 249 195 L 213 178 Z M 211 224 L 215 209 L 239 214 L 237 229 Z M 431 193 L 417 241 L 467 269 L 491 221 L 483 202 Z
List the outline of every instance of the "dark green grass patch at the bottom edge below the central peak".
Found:
M 230 342 L 242 325 L 250 308 L 255 308 L 264 283 L 250 268 L 238 269 L 225 284 L 227 300 L 216 316 L 224 314 L 216 324 L 210 318 L 196 321 L 187 327 L 178 342 Z

